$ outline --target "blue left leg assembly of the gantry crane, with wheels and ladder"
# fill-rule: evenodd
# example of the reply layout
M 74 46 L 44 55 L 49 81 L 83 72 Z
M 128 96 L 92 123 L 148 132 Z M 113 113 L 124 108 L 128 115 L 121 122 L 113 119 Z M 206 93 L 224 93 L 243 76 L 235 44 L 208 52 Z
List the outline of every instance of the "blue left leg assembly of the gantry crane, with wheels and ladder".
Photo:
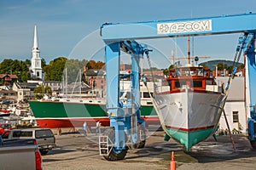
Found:
M 131 74 L 120 76 L 120 49 L 131 54 Z M 109 161 L 124 159 L 128 148 L 142 148 L 145 144 L 145 122 L 141 118 L 140 59 L 148 54 L 146 45 L 135 41 L 112 42 L 106 47 L 106 79 L 110 127 L 100 136 L 100 153 Z M 121 98 L 119 81 L 131 80 L 131 92 Z

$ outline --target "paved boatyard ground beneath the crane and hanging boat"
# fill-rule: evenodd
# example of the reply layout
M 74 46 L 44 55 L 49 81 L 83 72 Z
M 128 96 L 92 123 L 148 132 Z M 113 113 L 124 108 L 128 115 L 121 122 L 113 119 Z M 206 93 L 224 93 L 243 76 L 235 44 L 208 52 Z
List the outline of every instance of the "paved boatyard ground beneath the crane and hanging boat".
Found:
M 163 141 L 164 133 L 153 133 L 145 148 L 128 150 L 125 160 L 106 161 L 99 156 L 96 135 L 91 133 L 83 137 L 80 133 L 66 133 L 56 136 L 57 148 L 43 156 L 44 169 L 170 169 L 172 151 L 175 151 L 178 170 L 191 169 L 255 169 L 256 151 L 252 150 L 247 137 L 234 135 L 236 152 L 229 136 L 219 136 L 218 142 L 212 137 L 184 152 L 183 146 L 175 141 Z

